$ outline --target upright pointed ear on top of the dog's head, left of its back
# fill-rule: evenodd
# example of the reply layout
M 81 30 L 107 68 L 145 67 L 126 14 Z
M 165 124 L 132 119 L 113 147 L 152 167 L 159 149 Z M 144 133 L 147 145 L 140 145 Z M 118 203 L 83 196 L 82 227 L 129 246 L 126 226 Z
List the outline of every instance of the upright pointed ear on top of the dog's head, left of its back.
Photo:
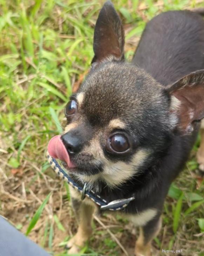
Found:
M 124 58 L 124 31 L 120 18 L 110 1 L 103 5 L 94 30 L 95 56 L 92 63 Z

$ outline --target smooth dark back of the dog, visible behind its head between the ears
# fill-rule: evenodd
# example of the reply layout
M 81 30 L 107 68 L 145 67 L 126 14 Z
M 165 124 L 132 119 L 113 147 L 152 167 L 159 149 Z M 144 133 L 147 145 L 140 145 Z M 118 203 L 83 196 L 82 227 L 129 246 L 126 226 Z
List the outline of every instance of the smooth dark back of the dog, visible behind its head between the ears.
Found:
M 164 86 L 203 69 L 203 24 L 191 11 L 159 14 L 145 27 L 132 62 Z

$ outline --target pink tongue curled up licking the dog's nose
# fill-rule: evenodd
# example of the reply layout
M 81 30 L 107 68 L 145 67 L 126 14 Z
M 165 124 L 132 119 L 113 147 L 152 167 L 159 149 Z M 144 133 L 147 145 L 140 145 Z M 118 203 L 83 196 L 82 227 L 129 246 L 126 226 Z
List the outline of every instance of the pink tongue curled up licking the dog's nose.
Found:
M 67 152 L 66 147 L 64 146 L 61 136 L 57 135 L 54 136 L 48 143 L 48 153 L 53 157 L 53 158 L 58 158 L 64 162 L 67 163 L 67 166 L 69 168 L 74 168 L 76 165 L 74 165 L 69 158 L 69 154 Z

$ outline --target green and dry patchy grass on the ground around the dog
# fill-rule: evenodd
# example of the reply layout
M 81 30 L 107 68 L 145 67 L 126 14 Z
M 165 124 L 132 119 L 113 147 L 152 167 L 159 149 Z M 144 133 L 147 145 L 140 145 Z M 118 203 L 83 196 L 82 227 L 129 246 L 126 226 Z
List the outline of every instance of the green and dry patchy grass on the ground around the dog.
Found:
M 156 14 L 203 6 L 199 0 L 113 2 L 124 24 L 128 60 Z M 55 255 L 66 255 L 63 246 L 76 224 L 68 187 L 49 168 L 45 152 L 49 138 L 61 132 L 68 96 L 89 69 L 102 3 L 0 0 L 0 214 Z M 195 172 L 198 145 L 199 138 L 171 186 L 154 255 L 172 248 L 183 249 L 183 255 L 204 255 L 204 183 Z M 134 247 L 135 229 L 127 220 L 106 215 L 101 221 L 125 248 Z M 94 235 L 79 255 L 121 255 L 107 230 L 93 225 Z

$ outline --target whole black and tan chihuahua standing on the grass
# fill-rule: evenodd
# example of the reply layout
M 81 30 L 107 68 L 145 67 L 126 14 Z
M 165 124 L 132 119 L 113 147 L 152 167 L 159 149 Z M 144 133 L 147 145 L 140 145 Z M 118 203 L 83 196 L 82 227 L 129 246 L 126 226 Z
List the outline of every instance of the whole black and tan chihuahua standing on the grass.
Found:
M 191 11 L 169 11 L 149 21 L 131 63 L 124 60 L 124 31 L 107 1 L 94 31 L 94 58 L 80 90 L 65 108 L 60 137 L 69 175 L 110 202 L 140 227 L 135 254 L 148 256 L 161 228 L 163 203 L 182 170 L 204 118 L 204 21 Z M 52 145 L 50 146 L 50 148 Z M 204 132 L 198 151 L 204 169 Z M 79 228 L 76 253 L 91 235 L 94 208 L 70 187 Z M 101 211 L 99 209 L 99 211 Z

